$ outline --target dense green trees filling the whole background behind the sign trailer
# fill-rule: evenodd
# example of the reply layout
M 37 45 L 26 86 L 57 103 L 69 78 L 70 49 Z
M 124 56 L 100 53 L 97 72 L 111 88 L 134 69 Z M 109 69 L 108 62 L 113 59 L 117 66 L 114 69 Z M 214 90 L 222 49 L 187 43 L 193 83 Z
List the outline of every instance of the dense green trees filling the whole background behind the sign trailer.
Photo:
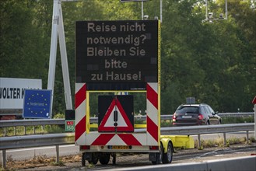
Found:
M 208 1 L 219 18 L 225 1 Z M 228 1 L 228 19 L 205 22 L 205 0 L 163 0 L 161 24 L 161 112 L 174 113 L 185 98 L 209 103 L 220 112 L 251 111 L 256 92 L 256 10 L 250 0 Z M 0 76 L 43 79 L 51 46 L 53 1 L 0 2 Z M 75 89 L 75 21 L 141 19 L 141 2 L 62 2 L 68 67 Z M 160 1 L 144 2 L 149 19 L 160 18 Z M 146 94 L 134 93 L 135 111 L 146 109 Z M 97 95 L 96 95 L 97 96 Z M 91 113 L 97 98 L 92 96 Z M 54 113 L 64 113 L 65 96 L 58 51 Z

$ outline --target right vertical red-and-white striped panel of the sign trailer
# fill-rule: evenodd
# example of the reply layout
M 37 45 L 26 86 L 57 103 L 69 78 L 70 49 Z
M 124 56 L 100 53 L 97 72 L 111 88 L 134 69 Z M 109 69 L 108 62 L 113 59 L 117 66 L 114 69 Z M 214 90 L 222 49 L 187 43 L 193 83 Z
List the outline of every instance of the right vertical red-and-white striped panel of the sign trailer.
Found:
M 146 86 L 146 110 L 147 110 L 147 145 L 158 145 L 159 120 L 158 120 L 158 83 L 147 83 Z

